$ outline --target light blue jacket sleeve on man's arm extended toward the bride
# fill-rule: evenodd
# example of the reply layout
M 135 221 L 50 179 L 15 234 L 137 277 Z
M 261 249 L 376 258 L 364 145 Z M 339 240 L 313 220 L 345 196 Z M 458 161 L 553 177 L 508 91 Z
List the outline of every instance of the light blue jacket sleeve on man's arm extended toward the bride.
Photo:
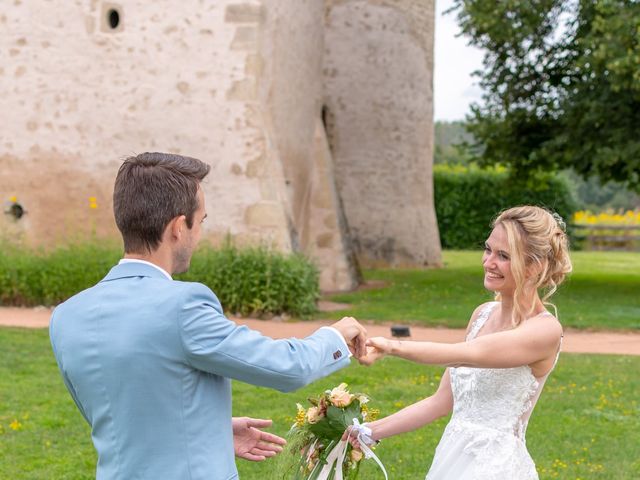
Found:
M 185 285 L 178 327 L 187 360 L 199 370 L 291 391 L 349 364 L 346 343 L 331 329 L 274 340 L 227 319 L 206 286 Z

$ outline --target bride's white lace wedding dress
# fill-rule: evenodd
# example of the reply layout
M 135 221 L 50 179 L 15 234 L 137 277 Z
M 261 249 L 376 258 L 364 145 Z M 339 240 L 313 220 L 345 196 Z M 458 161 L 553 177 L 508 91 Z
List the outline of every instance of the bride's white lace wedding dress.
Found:
M 467 341 L 476 337 L 496 305 L 480 312 Z M 537 480 L 525 432 L 549 373 L 536 378 L 528 365 L 458 367 L 449 373 L 453 415 L 426 480 Z

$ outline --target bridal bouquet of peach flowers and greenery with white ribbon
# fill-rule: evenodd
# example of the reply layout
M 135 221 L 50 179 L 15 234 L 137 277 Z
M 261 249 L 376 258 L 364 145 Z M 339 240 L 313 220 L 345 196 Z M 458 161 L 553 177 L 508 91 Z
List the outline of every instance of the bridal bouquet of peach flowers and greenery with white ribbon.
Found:
M 311 406 L 308 408 L 298 403 L 287 449 L 281 455 L 283 458 L 278 477 L 291 480 L 354 480 L 358 477 L 360 462 L 369 457 L 373 457 L 384 471 L 365 442 L 360 442 L 363 452 L 342 440 L 347 427 L 355 425 L 358 428 L 362 422 L 375 420 L 379 412 L 369 409 L 368 402 L 366 395 L 349 393 L 347 384 L 341 383 L 318 397 L 309 398 Z

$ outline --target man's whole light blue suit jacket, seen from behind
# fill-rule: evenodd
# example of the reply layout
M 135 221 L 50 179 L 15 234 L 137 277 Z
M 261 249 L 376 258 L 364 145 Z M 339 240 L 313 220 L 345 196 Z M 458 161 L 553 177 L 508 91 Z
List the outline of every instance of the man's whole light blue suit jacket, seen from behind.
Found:
M 206 286 L 142 263 L 60 304 L 50 336 L 98 480 L 235 479 L 230 379 L 290 391 L 349 363 L 332 329 L 273 340 L 225 318 Z

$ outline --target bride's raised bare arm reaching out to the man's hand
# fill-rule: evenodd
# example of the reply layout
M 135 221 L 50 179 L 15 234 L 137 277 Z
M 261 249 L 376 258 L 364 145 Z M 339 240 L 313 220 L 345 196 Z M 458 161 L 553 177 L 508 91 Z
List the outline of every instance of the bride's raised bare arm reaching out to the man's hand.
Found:
M 513 330 L 480 336 L 469 342 L 435 343 L 390 340 L 374 337 L 371 360 L 394 355 L 419 363 L 445 366 L 511 368 L 529 365 L 555 355 L 562 327 L 551 315 L 540 315 Z M 364 357 L 361 362 L 367 362 Z

